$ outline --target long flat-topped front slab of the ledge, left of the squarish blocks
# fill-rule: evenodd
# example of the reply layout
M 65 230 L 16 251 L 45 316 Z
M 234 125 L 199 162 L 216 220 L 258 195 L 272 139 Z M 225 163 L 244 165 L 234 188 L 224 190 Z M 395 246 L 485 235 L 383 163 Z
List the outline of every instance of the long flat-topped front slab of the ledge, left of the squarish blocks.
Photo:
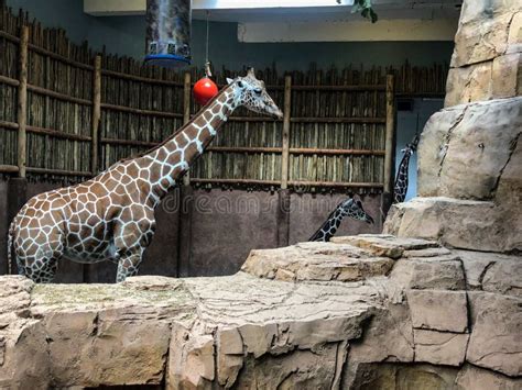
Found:
M 382 300 L 361 283 L 295 285 L 243 272 L 36 287 L 1 278 L 0 297 L 8 296 L 0 312 L 17 321 L 0 330 L 0 385 L 34 372 L 42 388 L 163 381 L 172 389 L 255 381 L 317 388 L 339 380 L 339 345 L 346 354 Z M 34 365 L 22 375 L 15 365 L 31 360 L 28 354 Z M 273 365 L 279 374 L 271 376 Z

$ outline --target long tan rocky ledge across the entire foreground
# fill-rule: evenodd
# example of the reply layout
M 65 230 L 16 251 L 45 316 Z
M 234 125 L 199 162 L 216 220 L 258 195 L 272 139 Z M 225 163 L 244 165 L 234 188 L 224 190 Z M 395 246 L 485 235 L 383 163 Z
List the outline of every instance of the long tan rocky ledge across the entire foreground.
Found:
M 515 389 L 522 259 L 391 235 L 230 277 L 0 278 L 0 388 Z

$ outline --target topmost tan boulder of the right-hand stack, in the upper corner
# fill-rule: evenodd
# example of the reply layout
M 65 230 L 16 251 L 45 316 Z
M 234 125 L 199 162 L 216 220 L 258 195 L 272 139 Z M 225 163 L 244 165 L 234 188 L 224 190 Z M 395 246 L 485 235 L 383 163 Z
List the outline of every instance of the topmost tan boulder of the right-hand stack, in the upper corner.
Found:
M 518 0 L 465 1 L 446 83 L 446 107 L 522 94 Z

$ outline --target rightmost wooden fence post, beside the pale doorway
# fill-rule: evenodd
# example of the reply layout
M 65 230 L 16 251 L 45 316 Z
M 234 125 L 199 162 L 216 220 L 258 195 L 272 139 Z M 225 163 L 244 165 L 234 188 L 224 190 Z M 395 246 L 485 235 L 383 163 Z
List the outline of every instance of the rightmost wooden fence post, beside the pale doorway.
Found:
M 393 199 L 393 156 L 395 136 L 395 102 L 394 102 L 394 79 L 393 75 L 387 75 L 387 133 L 384 153 L 384 193 L 383 193 L 383 216 L 388 213 Z

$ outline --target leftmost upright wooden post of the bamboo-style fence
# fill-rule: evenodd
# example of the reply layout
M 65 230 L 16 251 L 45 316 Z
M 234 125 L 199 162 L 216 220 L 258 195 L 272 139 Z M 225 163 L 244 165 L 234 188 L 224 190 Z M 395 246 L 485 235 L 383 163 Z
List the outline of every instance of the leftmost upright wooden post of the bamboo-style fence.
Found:
M 29 27 L 22 26 L 20 37 L 19 86 L 18 86 L 18 175 L 25 177 L 28 158 L 26 125 L 28 125 L 28 44 Z

